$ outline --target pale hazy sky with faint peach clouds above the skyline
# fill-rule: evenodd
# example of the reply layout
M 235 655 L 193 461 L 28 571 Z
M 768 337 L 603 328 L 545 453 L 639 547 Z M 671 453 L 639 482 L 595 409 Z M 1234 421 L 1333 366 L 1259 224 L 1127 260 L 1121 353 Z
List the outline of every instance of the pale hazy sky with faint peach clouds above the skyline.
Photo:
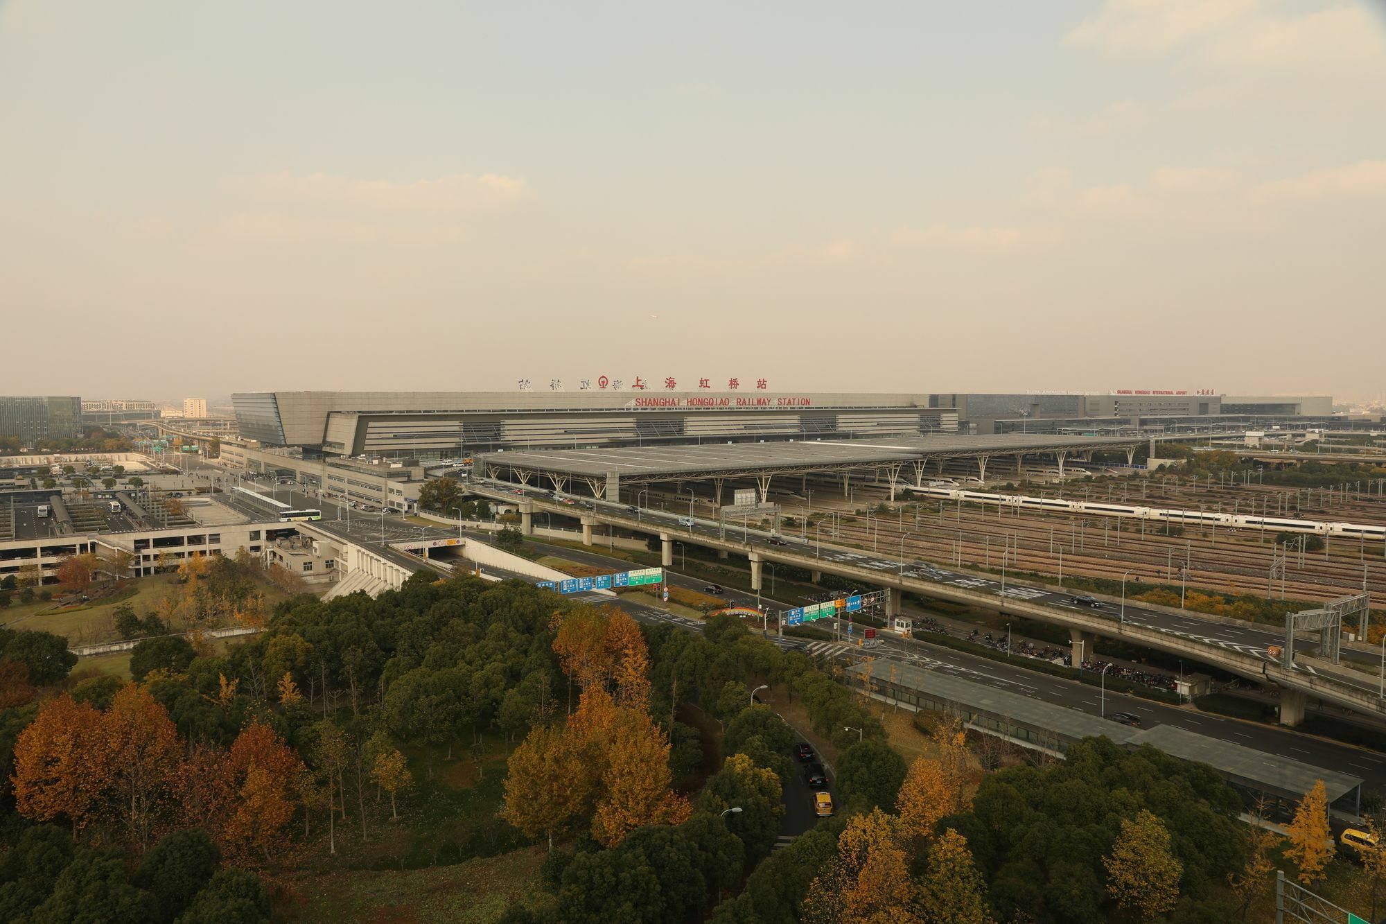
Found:
M 0 394 L 1379 395 L 1378 0 L 0 0 Z

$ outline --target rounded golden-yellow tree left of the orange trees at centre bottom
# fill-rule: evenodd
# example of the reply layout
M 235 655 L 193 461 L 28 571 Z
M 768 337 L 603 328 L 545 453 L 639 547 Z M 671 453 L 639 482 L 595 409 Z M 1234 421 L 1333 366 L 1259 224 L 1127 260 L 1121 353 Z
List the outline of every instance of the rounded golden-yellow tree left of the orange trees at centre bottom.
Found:
M 500 817 L 525 837 L 547 837 L 582 817 L 596 780 L 585 766 L 581 742 L 567 728 L 536 726 L 507 762 L 506 803 Z

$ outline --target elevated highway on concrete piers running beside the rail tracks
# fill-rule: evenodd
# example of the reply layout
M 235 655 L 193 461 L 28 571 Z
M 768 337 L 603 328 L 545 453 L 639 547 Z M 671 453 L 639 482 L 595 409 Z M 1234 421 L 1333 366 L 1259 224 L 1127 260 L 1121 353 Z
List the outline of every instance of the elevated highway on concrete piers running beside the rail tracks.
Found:
M 1096 637 L 1113 638 L 1214 665 L 1256 683 L 1281 688 L 1281 721 L 1299 724 L 1307 698 L 1313 696 L 1344 709 L 1386 720 L 1386 699 L 1379 694 L 1379 678 L 1353 670 L 1325 669 L 1307 660 L 1283 666 L 1271 655 L 1271 647 L 1283 645 L 1283 633 L 1275 627 L 1220 619 L 1188 610 L 1106 599 L 1099 609 L 1071 602 L 1071 595 L 1042 587 L 997 580 L 990 574 L 944 569 L 924 562 L 906 562 L 901 556 L 866 552 L 833 545 L 821 540 L 773 537 L 764 530 L 728 529 L 715 520 L 681 516 L 676 512 L 649 511 L 632 505 L 585 499 L 578 505 L 553 499 L 549 493 L 517 487 L 503 481 L 473 481 L 467 491 L 493 501 L 516 504 L 521 531 L 531 533 L 535 513 L 579 519 L 584 541 L 592 542 L 592 527 L 606 524 L 657 536 L 663 545 L 664 565 L 674 562 L 674 542 L 689 542 L 719 552 L 747 555 L 751 585 L 761 588 L 766 563 L 783 563 L 815 574 L 836 574 L 863 585 L 888 591 L 887 616 L 900 609 L 900 595 L 912 592 L 969 606 L 998 610 L 1062 626 L 1073 640 L 1073 660 L 1091 656 Z M 687 523 L 692 522 L 692 526 Z M 904 549 L 901 549 L 904 551 Z M 1343 648 L 1343 658 L 1376 663 L 1375 652 Z

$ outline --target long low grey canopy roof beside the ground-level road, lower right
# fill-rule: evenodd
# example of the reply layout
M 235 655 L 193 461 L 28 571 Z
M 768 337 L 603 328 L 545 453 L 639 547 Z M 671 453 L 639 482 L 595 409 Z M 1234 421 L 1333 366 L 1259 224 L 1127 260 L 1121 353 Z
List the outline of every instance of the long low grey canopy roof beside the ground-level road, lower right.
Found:
M 876 680 L 890 680 L 891 665 L 888 662 L 873 660 L 870 669 Z M 1182 760 L 1206 763 L 1224 777 L 1263 792 L 1299 799 L 1313 788 L 1315 780 L 1322 780 L 1328 791 L 1328 801 L 1333 802 L 1362 784 L 1360 777 L 1347 773 L 1256 751 L 1178 726 L 1137 730 L 1109 719 L 1089 716 L 1077 709 L 951 677 L 936 670 L 912 665 L 894 665 L 894 683 L 901 687 L 927 692 L 979 712 L 1005 716 L 1017 724 L 1052 731 L 1060 738 L 1071 741 L 1089 735 L 1106 735 L 1117 744 L 1150 745 Z M 865 666 L 857 666 L 852 670 L 865 673 Z

